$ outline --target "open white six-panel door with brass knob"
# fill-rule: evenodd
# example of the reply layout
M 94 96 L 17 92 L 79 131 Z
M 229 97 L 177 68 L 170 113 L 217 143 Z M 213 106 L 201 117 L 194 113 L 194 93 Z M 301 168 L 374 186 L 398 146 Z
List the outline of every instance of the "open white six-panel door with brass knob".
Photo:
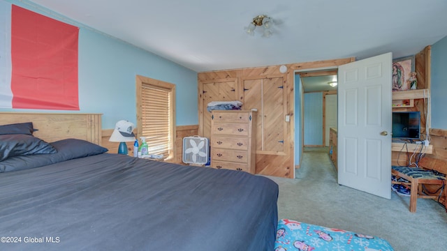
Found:
M 387 53 L 339 66 L 338 182 L 391 198 L 391 69 Z

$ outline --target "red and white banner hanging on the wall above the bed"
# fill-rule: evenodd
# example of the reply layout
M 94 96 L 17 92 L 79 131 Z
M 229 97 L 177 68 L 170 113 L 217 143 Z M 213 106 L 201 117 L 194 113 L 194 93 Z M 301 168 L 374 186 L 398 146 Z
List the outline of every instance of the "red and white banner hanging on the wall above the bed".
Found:
M 0 107 L 79 110 L 78 34 L 0 0 Z

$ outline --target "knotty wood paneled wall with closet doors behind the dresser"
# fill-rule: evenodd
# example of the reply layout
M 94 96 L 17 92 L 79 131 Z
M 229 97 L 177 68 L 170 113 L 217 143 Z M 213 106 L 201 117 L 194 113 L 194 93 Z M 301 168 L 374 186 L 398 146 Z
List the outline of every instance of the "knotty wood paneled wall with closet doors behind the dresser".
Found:
M 291 123 L 284 123 L 283 115 L 293 115 L 293 79 L 291 78 L 293 70 L 288 65 L 287 73 L 279 73 L 279 67 L 266 66 L 198 73 L 199 133 L 203 137 L 210 134 L 211 116 L 210 112 L 207 112 L 207 103 L 210 101 L 239 100 L 244 104 L 242 109 L 256 108 L 258 109 L 256 174 L 292 178 L 293 134 Z M 268 97 L 279 95 L 279 99 L 265 98 L 265 91 L 272 86 L 275 86 L 275 91 L 279 90 L 276 88 L 277 85 L 281 86 L 281 93 L 275 92 Z M 263 111 L 263 107 L 274 109 L 276 112 Z M 269 114 L 265 115 L 263 112 Z M 281 114 L 280 117 L 277 116 L 278 114 Z M 265 128 L 271 129 L 265 132 Z M 281 146 L 272 146 L 278 140 L 275 142 L 263 140 L 269 135 L 280 138 Z

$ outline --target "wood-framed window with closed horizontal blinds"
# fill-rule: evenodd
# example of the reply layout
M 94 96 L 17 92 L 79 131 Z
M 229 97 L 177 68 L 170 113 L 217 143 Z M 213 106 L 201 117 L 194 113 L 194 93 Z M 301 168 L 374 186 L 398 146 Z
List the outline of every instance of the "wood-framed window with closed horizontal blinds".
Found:
M 175 84 L 136 77 L 138 137 L 146 137 L 149 154 L 175 156 Z

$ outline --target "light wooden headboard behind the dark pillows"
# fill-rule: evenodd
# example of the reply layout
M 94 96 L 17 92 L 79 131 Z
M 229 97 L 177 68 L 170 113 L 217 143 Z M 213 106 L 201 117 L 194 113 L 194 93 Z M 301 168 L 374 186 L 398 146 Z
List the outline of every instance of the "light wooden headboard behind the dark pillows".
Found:
M 32 122 L 34 136 L 55 142 L 60 139 L 84 139 L 101 144 L 101 114 L 59 114 L 0 112 L 0 125 Z

